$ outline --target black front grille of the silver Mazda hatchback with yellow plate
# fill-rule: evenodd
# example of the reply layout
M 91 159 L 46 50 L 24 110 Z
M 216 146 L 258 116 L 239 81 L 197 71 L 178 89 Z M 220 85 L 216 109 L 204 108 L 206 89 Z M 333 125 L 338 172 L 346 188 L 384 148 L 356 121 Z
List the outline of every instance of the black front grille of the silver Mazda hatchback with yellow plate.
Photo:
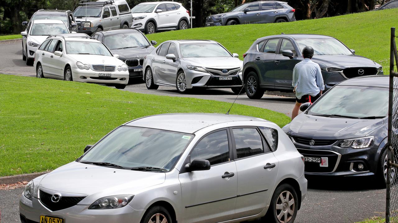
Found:
M 40 201 L 51 211 L 59 211 L 65 208 L 70 208 L 78 204 L 85 197 L 64 197 L 62 196 L 59 202 L 52 202 L 51 196 L 53 194 L 48 194 L 42 190 L 40 190 Z

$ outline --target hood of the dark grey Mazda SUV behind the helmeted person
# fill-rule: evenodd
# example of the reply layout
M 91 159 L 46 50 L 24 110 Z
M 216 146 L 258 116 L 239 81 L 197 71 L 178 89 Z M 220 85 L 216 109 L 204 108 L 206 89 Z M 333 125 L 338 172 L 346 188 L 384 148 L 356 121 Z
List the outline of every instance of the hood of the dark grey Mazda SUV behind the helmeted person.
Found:
M 380 67 L 378 63 L 358 55 L 322 55 L 314 56 L 314 62 L 326 67 Z

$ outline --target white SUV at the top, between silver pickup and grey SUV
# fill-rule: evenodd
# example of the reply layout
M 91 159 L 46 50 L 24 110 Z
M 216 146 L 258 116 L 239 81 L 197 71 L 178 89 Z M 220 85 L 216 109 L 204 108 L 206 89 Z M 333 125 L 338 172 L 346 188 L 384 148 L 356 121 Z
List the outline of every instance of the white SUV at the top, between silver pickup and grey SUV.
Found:
M 131 9 L 131 13 L 131 27 L 144 31 L 145 34 L 189 27 L 189 11 L 178 2 L 144 2 Z

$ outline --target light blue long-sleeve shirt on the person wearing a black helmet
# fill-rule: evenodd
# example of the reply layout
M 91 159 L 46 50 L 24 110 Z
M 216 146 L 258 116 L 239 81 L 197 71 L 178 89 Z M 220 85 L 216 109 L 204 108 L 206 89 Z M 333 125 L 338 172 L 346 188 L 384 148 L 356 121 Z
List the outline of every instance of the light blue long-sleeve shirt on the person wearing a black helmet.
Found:
M 295 65 L 293 69 L 293 87 L 296 87 L 296 97 L 303 95 L 316 96 L 321 90 L 325 90 L 321 68 L 318 63 L 305 58 Z

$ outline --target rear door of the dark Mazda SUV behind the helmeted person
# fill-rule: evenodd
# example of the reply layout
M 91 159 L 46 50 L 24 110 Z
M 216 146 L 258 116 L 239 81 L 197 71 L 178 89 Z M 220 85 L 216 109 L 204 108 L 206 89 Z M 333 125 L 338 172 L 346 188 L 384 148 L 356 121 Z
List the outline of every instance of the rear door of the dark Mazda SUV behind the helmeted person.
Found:
M 274 63 L 275 52 L 279 43 L 279 38 L 266 40 L 265 44 L 259 49 L 254 58 L 254 63 L 259 69 L 259 78 L 261 84 L 269 85 L 267 88 L 274 86 Z

